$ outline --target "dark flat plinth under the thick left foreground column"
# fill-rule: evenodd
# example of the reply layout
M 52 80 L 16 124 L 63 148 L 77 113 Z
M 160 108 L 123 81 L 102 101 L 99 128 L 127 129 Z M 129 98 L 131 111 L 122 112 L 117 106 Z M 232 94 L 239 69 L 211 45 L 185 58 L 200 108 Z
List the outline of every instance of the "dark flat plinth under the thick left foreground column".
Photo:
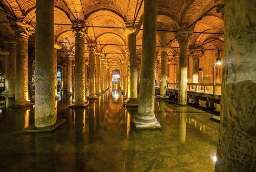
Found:
M 29 127 L 23 130 L 23 133 L 44 133 L 56 130 L 56 128 L 60 127 L 66 120 L 57 120 L 55 124 L 47 126 L 47 127 L 35 127 L 35 124 L 29 125 Z

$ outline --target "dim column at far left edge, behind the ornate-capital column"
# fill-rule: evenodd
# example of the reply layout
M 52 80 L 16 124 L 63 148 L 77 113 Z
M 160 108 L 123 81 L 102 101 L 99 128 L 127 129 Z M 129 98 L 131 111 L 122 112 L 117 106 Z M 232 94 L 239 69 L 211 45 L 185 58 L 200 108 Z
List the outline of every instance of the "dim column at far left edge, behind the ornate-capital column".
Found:
M 9 51 L 9 89 L 8 97 L 15 97 L 15 76 L 16 76 L 16 42 L 6 42 L 6 50 Z

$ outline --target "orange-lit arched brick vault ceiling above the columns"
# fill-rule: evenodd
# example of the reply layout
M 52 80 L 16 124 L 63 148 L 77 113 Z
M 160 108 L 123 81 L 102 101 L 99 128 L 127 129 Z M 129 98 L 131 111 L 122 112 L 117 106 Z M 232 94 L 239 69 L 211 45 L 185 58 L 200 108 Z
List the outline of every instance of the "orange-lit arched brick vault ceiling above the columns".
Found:
M 111 65 L 111 68 L 117 68 L 119 66 L 116 65 L 116 60 L 110 57 L 122 59 L 125 54 L 124 45 L 127 45 L 127 37 L 124 35 L 125 26 L 140 23 L 142 24 L 141 29 L 143 29 L 143 3 L 141 4 L 141 2 L 142 0 L 57 1 L 55 3 L 55 23 L 57 23 L 55 38 L 62 44 L 62 51 L 74 51 L 75 36 L 71 31 L 71 21 L 84 21 L 88 29 L 86 43 L 89 39 L 95 40 L 98 51 L 104 52 L 106 58 L 109 58 L 108 64 L 115 64 Z M 0 8 L 9 15 L 9 18 L 12 18 L 10 16 L 25 18 L 33 26 L 35 26 L 35 4 L 35 0 L 0 0 Z M 140 4 L 142 7 L 138 12 Z M 174 32 L 157 31 L 156 51 L 160 46 L 168 43 L 167 46 L 170 47 L 168 58 L 179 55 L 179 44 L 174 39 L 174 35 L 175 31 L 181 28 L 191 26 L 190 29 L 194 29 L 195 32 L 223 32 L 221 15 L 216 12 L 216 9 L 209 11 L 214 5 L 214 0 L 159 0 L 157 29 Z M 6 14 L 0 12 L 1 21 L 9 21 Z M 201 17 L 202 15 L 204 16 Z M 192 23 L 194 24 L 192 25 Z M 96 28 L 95 26 L 108 28 Z M 0 27 L 1 40 L 14 39 L 15 32 L 10 28 L 9 23 L 0 23 Z M 142 32 L 140 30 L 136 37 L 138 59 L 142 55 Z M 34 41 L 33 39 L 34 36 L 31 36 L 30 41 Z M 223 35 L 194 33 L 189 40 L 189 48 L 214 47 L 221 50 L 223 39 Z M 173 41 L 169 43 L 170 40 Z M 85 49 L 87 50 L 87 46 Z M 88 51 L 86 51 L 86 56 L 88 56 L 87 54 Z M 156 58 L 160 61 L 160 52 L 157 53 Z

